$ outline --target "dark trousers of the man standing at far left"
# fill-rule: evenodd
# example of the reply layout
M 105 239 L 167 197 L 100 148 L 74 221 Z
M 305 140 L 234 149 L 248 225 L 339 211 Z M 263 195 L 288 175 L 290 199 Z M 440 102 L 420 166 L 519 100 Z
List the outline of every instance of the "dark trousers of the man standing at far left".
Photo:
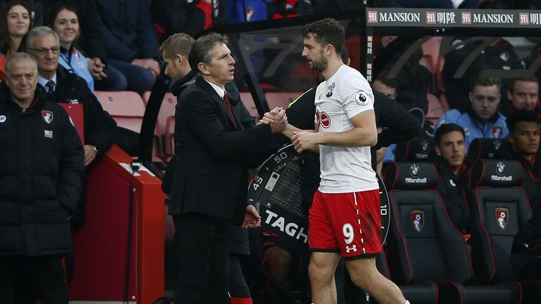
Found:
M 35 304 L 36 287 L 44 304 L 68 304 L 62 255 L 0 258 L 0 303 Z

